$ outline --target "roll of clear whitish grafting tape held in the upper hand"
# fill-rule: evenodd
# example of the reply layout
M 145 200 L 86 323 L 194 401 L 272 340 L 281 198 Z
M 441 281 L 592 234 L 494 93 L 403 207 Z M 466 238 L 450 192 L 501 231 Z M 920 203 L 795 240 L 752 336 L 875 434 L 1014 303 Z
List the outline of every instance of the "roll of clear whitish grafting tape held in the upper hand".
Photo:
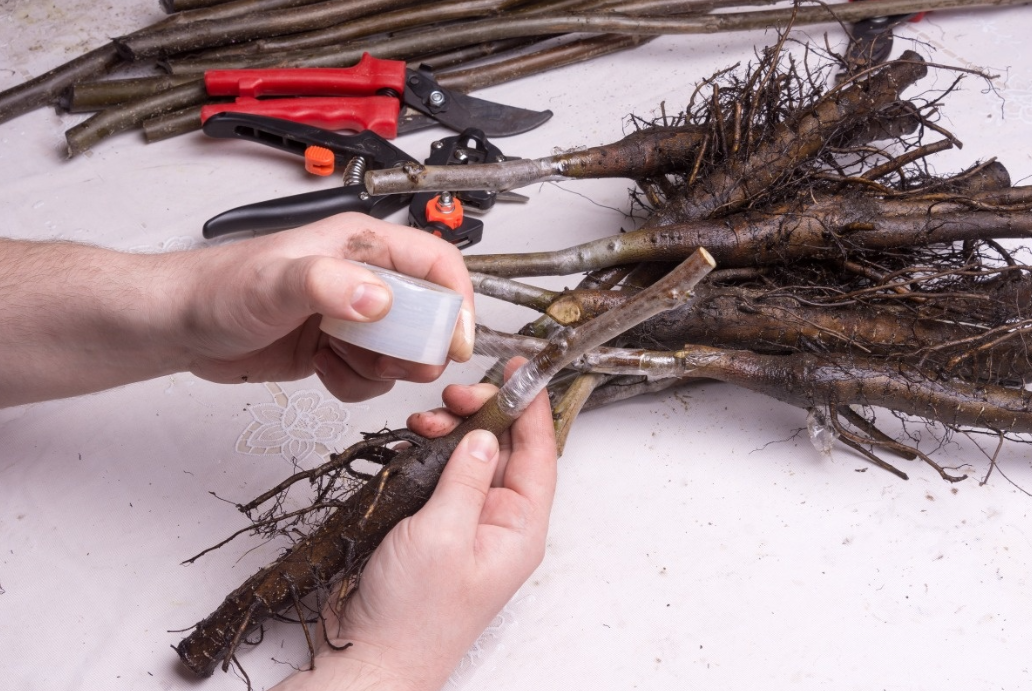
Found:
M 373 271 L 393 294 L 390 311 L 378 322 L 323 317 L 324 332 L 343 341 L 410 362 L 443 365 L 448 359 L 462 296 L 428 281 L 355 262 Z

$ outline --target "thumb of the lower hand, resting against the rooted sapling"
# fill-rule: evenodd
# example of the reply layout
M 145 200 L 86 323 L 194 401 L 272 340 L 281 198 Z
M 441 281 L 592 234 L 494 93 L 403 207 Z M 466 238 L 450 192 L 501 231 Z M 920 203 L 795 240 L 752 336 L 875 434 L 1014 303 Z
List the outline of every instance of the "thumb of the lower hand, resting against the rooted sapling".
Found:
M 473 540 L 498 462 L 498 440 L 483 429 L 462 437 L 424 511 L 443 533 Z

